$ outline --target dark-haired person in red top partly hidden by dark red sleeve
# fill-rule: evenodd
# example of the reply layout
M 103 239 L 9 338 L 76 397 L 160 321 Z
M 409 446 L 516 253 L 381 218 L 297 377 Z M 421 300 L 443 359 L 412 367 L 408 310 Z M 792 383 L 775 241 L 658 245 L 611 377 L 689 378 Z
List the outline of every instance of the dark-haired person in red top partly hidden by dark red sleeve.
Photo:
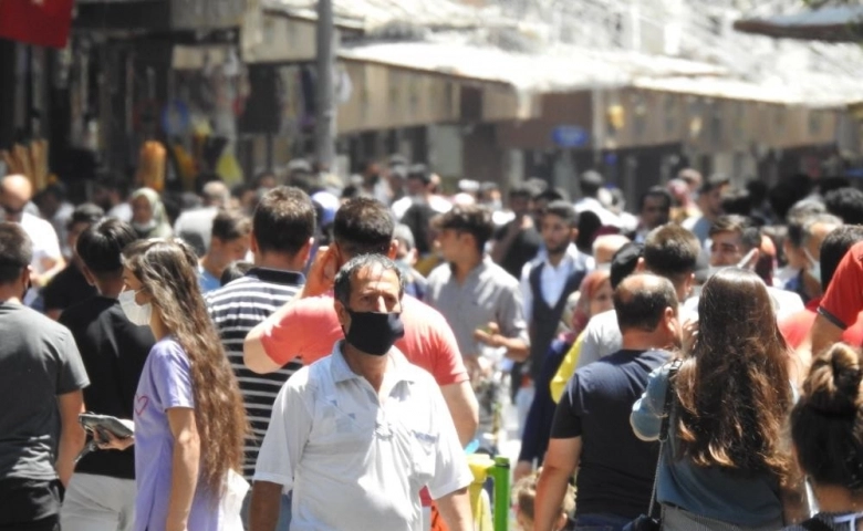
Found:
M 863 241 L 863 227 L 845 226 L 833 229 L 821 243 L 820 253 L 813 254 L 811 250 L 809 251 L 809 254 L 812 256 L 810 261 L 817 261 L 810 264 L 807 274 L 810 274 L 812 271 L 819 272 L 818 270 L 820 270 L 821 287 L 826 291 L 842 257 L 845 256 L 852 246 L 861 241 Z M 820 267 L 818 267 L 819 264 Z M 792 348 L 798 348 L 805 341 L 815 321 L 817 310 L 821 305 L 821 301 L 822 298 L 814 298 L 807 303 L 805 310 L 796 312 L 779 321 L 779 330 Z M 852 326 L 842 332 L 842 341 L 860 345 L 861 340 L 863 340 L 863 321 L 857 316 L 853 323 Z

